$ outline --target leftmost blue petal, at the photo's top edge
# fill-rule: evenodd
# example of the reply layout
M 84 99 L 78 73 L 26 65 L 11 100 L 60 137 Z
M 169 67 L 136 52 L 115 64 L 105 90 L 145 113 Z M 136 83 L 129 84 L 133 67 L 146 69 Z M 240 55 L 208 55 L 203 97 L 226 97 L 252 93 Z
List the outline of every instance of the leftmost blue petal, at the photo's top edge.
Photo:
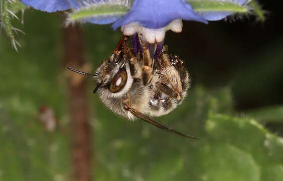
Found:
M 22 0 L 22 2 L 26 6 L 49 13 L 70 9 L 68 0 Z

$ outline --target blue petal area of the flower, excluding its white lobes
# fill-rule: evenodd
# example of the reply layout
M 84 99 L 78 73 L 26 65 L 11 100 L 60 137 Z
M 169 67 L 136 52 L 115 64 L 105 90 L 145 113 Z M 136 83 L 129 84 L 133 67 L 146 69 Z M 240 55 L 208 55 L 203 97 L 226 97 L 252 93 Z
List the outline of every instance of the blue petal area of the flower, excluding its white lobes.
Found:
M 67 9 L 79 10 L 87 6 L 99 3 L 128 2 L 129 0 L 22 0 L 22 2 L 34 9 L 45 12 L 64 11 Z M 243 6 L 248 0 L 222 0 Z M 207 23 L 226 18 L 233 12 L 205 12 L 195 13 L 185 0 L 133 0 L 129 12 L 121 16 L 99 17 L 97 20 L 89 18 L 94 24 L 113 23 L 113 29 L 139 22 L 142 26 L 150 29 L 158 29 L 169 25 L 176 19 Z M 105 21 L 107 19 L 107 21 Z

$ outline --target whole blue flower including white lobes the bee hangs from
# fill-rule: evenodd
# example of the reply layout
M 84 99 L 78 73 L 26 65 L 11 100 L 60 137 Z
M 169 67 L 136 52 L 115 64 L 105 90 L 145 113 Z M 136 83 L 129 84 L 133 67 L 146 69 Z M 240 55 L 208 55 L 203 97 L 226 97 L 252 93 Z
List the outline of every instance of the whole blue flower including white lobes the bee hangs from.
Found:
M 196 2 L 189 0 L 190 2 Z M 244 6 L 249 0 L 214 0 L 229 2 Z M 140 33 L 149 43 L 162 42 L 165 32 L 182 31 L 182 21 L 189 20 L 207 24 L 207 21 L 216 21 L 226 18 L 233 12 L 202 11 L 194 12 L 186 0 L 22 0 L 25 5 L 46 12 L 64 11 L 72 9 L 74 12 L 98 7 L 99 5 L 124 5 L 129 9 L 124 14 L 103 14 L 82 18 L 93 24 L 109 24 L 113 29 L 121 27 L 124 35 L 131 36 Z M 204 2 L 205 3 L 205 2 Z

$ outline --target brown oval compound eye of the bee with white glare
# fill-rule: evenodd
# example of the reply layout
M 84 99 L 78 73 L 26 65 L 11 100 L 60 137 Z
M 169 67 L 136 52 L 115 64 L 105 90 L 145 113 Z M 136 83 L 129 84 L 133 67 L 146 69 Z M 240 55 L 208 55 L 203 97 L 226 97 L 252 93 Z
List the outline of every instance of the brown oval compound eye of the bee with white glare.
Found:
M 111 80 L 109 91 L 111 93 L 117 93 L 125 86 L 127 82 L 127 72 L 126 70 L 120 70 L 115 77 Z

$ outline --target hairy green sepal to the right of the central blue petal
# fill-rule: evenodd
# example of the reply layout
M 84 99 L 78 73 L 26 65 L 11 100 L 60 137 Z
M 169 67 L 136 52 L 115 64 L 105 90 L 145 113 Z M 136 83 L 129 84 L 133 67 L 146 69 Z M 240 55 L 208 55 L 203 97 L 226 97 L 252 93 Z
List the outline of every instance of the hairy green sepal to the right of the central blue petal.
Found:
M 234 12 L 247 13 L 249 10 L 245 6 L 224 1 L 210 0 L 187 0 L 195 12 Z

